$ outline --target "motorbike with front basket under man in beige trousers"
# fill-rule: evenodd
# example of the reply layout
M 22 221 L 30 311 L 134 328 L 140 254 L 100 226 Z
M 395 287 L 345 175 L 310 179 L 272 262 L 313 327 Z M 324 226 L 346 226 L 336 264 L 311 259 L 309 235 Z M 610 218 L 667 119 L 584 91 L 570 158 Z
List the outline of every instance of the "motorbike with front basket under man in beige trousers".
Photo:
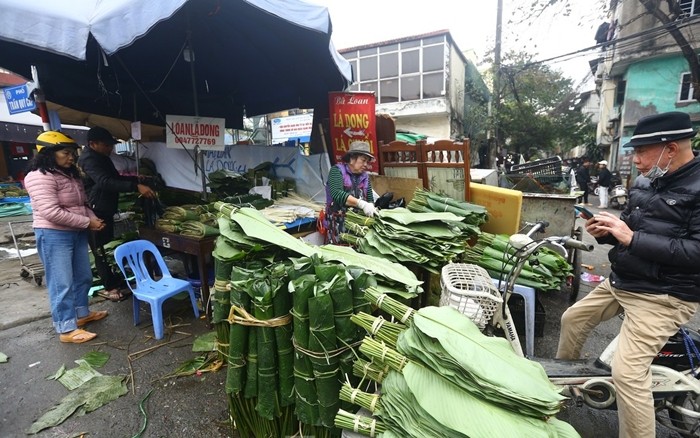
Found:
M 533 229 L 543 230 L 546 226 L 546 222 L 539 222 Z M 566 248 L 584 251 L 593 249 L 592 245 L 586 245 L 570 236 L 533 240 L 533 229 L 528 234 L 514 234 L 510 238 L 510 244 L 515 248 L 515 267 L 504 280 L 503 311 L 494 313 L 485 330 L 491 334 L 503 334 L 519 354 L 523 350 L 506 304 L 529 257 L 545 245 L 559 251 L 564 257 Z M 595 359 L 529 359 L 540 363 L 550 381 L 562 386 L 562 394 L 572 399 L 577 406 L 585 404 L 595 409 L 616 409 L 615 382 L 610 364 L 617 339 L 613 339 Z M 700 437 L 700 334 L 688 327 L 681 327 L 652 361 L 651 374 L 657 421 L 683 437 Z M 668 417 L 660 415 L 664 411 Z

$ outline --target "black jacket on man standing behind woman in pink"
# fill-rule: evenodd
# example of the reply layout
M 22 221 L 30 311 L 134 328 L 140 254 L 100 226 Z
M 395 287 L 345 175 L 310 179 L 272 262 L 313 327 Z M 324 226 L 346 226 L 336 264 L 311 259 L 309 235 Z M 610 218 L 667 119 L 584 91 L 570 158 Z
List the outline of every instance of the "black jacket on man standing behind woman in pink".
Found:
M 119 175 L 111 158 L 90 147 L 83 148 L 78 166 L 83 171 L 90 208 L 100 219 L 112 219 L 119 209 L 120 192 L 137 191 L 138 178 Z

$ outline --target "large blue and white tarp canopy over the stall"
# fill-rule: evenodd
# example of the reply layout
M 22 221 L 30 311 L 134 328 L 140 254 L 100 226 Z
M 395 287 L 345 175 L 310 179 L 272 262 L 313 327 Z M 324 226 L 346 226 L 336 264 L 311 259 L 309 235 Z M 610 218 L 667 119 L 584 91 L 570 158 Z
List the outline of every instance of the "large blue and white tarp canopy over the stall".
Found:
M 328 10 L 302 0 L 0 0 L 0 11 L 0 67 L 31 78 L 36 65 L 47 100 L 86 113 L 238 128 L 244 111 L 325 108 L 352 82 Z

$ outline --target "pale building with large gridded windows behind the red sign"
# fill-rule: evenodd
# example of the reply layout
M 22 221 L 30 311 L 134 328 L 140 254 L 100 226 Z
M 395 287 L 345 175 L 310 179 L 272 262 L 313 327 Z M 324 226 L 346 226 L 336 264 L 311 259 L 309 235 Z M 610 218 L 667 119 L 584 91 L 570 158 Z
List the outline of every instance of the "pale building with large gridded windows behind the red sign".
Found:
M 484 135 L 489 91 L 447 30 L 339 50 L 352 65 L 349 91 L 371 91 L 397 130 L 433 139 Z

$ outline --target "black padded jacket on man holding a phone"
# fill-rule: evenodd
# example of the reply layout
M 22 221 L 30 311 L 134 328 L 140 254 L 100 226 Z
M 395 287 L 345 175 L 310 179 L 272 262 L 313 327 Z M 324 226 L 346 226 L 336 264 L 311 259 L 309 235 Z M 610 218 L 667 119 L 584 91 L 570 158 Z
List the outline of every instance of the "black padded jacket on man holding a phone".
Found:
M 634 231 L 628 247 L 598 239 L 615 245 L 612 285 L 700 302 L 700 158 L 651 184 L 637 178 L 620 218 Z

